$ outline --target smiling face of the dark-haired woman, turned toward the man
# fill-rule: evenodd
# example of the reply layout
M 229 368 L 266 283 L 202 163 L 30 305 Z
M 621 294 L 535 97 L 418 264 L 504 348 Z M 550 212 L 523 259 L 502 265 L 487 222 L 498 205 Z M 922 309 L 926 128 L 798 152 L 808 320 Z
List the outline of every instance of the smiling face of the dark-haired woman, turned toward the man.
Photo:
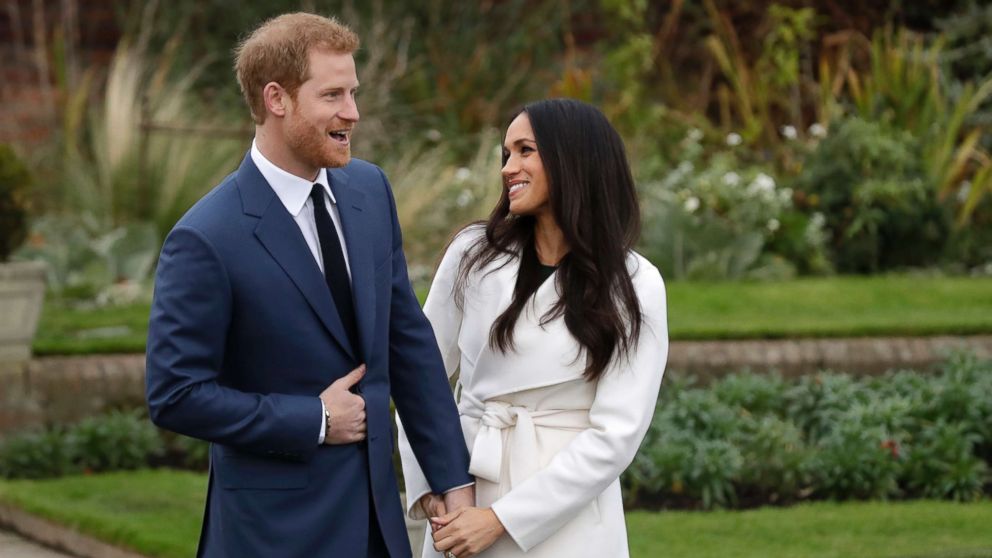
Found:
M 550 213 L 548 177 L 537 151 L 530 118 L 522 112 L 506 129 L 503 140 L 503 187 L 510 197 L 510 213 L 539 215 Z

